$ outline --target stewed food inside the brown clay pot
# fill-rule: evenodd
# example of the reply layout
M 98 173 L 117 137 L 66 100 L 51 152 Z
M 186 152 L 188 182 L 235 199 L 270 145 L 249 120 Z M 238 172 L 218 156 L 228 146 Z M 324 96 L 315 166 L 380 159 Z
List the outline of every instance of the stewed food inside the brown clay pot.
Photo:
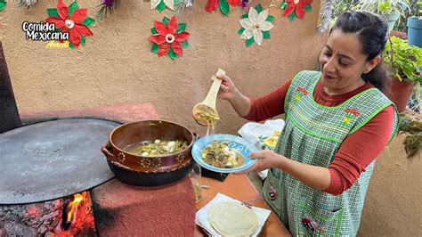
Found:
M 136 155 L 152 157 L 156 155 L 177 153 L 179 151 L 183 151 L 187 147 L 188 142 L 186 141 L 155 140 L 154 142 L 135 143 L 133 145 L 127 146 L 124 150 Z

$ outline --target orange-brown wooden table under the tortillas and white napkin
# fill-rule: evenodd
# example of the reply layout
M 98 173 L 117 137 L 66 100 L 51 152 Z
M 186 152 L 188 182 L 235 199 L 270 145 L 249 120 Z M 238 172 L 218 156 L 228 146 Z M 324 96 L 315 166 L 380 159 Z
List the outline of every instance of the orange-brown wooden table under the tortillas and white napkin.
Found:
M 246 175 L 229 175 L 224 182 L 202 177 L 202 185 L 208 185 L 209 189 L 202 189 L 202 199 L 197 204 L 197 210 L 207 205 L 220 192 L 235 200 L 246 202 L 252 206 L 272 210 Z M 196 226 L 195 236 L 207 236 L 199 225 Z M 291 236 L 286 227 L 275 216 L 274 212 L 267 218 L 260 236 Z

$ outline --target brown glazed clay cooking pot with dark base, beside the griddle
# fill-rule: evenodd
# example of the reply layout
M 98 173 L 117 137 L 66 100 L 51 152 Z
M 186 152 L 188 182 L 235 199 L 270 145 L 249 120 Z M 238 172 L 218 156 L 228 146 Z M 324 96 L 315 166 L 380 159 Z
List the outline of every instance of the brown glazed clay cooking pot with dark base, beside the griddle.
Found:
M 130 145 L 155 140 L 188 142 L 183 151 L 145 157 L 124 149 Z M 180 124 L 165 120 L 142 120 L 115 128 L 109 142 L 102 146 L 110 170 L 127 184 L 155 186 L 173 183 L 187 174 L 193 165 L 191 157 L 195 135 Z

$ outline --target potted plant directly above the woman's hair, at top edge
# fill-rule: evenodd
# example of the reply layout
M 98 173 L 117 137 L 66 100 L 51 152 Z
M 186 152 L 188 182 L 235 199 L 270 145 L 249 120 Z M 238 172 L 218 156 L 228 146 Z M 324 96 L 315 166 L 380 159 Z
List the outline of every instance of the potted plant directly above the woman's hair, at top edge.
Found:
M 385 17 L 388 22 L 388 31 L 394 28 L 400 15 L 409 7 L 408 0 L 360 0 L 353 6 L 353 10 L 374 12 Z

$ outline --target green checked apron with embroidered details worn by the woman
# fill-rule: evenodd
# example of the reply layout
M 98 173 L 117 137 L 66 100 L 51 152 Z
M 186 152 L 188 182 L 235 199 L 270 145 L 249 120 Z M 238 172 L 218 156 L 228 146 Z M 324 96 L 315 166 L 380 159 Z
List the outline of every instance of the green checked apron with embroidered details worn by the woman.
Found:
M 320 78 L 319 71 L 301 71 L 293 79 L 284 105 L 286 125 L 274 151 L 304 164 L 328 168 L 345 137 L 393 103 L 370 88 L 334 107 L 318 104 L 313 91 Z M 395 111 L 390 141 L 397 132 L 398 120 Z M 375 160 L 350 189 L 338 196 L 271 168 L 263 187 L 264 199 L 293 236 L 354 236 L 374 165 Z

